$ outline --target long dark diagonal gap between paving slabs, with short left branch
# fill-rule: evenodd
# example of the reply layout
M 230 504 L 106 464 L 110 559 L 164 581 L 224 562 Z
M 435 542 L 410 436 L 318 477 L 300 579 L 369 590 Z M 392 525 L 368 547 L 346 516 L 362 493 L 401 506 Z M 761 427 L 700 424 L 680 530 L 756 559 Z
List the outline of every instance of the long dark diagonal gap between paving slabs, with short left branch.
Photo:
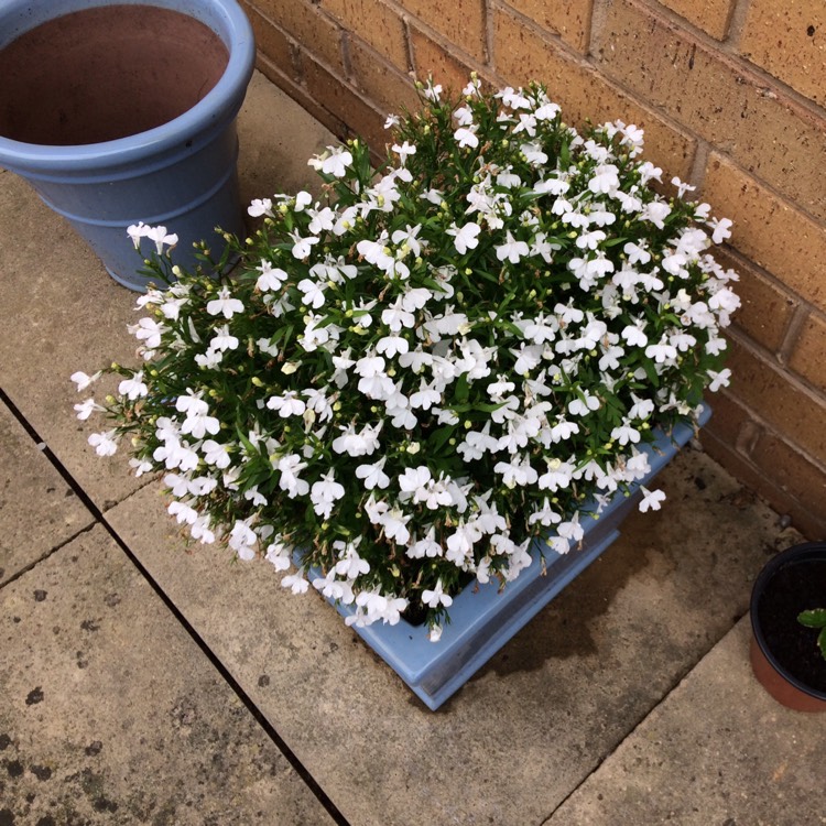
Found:
M 186 617 L 184 617 L 184 615 L 178 610 L 178 608 L 175 606 L 172 599 L 170 599 L 170 597 L 164 593 L 161 586 L 155 582 L 155 579 L 151 576 L 151 574 L 146 570 L 146 568 L 141 564 L 138 557 L 132 553 L 132 551 L 129 548 L 126 542 L 123 542 L 123 540 L 119 536 L 117 531 L 112 528 L 112 525 L 107 520 L 104 512 L 98 508 L 98 506 L 93 501 L 93 499 L 86 493 L 86 491 L 78 485 L 77 480 L 66 469 L 66 467 L 52 453 L 48 445 L 46 445 L 45 442 L 43 442 L 43 439 L 40 437 L 40 434 L 37 434 L 34 427 L 32 427 L 32 425 L 25 420 L 25 417 L 22 415 L 20 410 L 9 399 L 9 396 L 6 394 L 6 392 L 2 389 L 0 389 L 0 402 L 8 406 L 9 411 L 12 413 L 12 415 L 18 421 L 18 423 L 22 426 L 22 428 L 26 432 L 26 434 L 32 438 L 35 447 L 43 453 L 45 458 L 51 463 L 52 467 L 57 471 L 57 474 L 59 474 L 62 479 L 68 485 L 69 489 L 77 497 L 80 503 L 87 509 L 91 519 L 94 520 L 94 521 L 90 521 L 89 524 L 85 525 L 81 530 L 77 531 L 75 534 L 67 537 L 65 541 L 62 541 L 59 544 L 55 545 L 55 547 L 51 548 L 48 553 L 40 556 L 37 559 L 26 565 L 21 570 L 15 572 L 14 575 L 8 582 L 0 584 L 0 588 L 4 587 L 6 585 L 11 584 L 12 582 L 15 582 L 25 573 L 34 568 L 39 563 L 48 558 L 55 552 L 57 552 L 62 547 L 65 547 L 72 541 L 77 539 L 77 536 L 84 533 L 88 533 L 95 528 L 96 524 L 100 524 L 107 531 L 109 536 L 116 542 L 118 547 L 123 552 L 123 554 L 127 556 L 130 563 L 138 569 L 140 575 L 152 587 L 153 591 L 161 598 L 161 600 L 164 602 L 166 608 L 169 608 L 169 610 L 174 616 L 175 620 L 183 627 L 183 629 L 186 631 L 189 638 L 197 644 L 197 646 L 200 649 L 204 655 L 211 663 L 213 667 L 216 669 L 216 671 L 220 674 L 221 678 L 228 684 L 228 686 L 236 694 L 239 700 L 244 705 L 244 707 L 250 713 L 250 715 L 256 720 L 256 722 L 264 730 L 267 736 L 279 748 L 281 753 L 290 762 L 290 764 L 293 767 L 295 772 L 301 776 L 304 783 L 306 783 L 306 785 L 309 787 L 309 790 L 318 800 L 318 802 L 324 806 L 324 808 L 327 811 L 327 813 L 330 815 L 334 822 L 336 824 L 339 824 L 339 826 L 348 826 L 347 820 L 345 819 L 344 815 L 338 811 L 335 803 L 333 803 L 333 801 L 329 798 L 326 792 L 320 787 L 320 785 L 316 782 L 316 780 L 312 776 L 312 774 L 306 770 L 306 768 L 302 764 L 302 762 L 296 758 L 296 756 L 293 753 L 293 751 L 290 749 L 290 747 L 286 745 L 283 738 L 279 735 L 279 732 L 270 724 L 270 721 L 263 716 L 263 714 L 261 714 L 261 711 L 258 709 L 254 703 L 250 699 L 249 695 L 243 691 L 240 684 L 235 680 L 235 677 L 225 667 L 225 665 L 220 662 L 220 660 L 213 653 L 213 651 L 204 642 L 203 638 L 197 633 L 197 631 L 188 622 Z M 154 479 L 150 479 L 146 483 L 150 485 L 154 481 L 155 481 Z M 141 487 L 144 487 L 144 486 L 141 486 Z M 133 491 L 133 493 L 134 492 L 137 491 Z M 129 497 L 133 496 L 133 493 L 129 493 L 127 497 L 124 497 L 124 499 L 129 499 Z

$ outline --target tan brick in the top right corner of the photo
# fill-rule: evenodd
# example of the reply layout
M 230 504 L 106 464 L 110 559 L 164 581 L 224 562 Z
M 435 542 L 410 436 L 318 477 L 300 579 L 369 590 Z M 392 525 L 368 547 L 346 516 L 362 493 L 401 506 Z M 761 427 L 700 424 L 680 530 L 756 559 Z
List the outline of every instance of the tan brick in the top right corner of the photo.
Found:
M 826 4 L 751 0 L 740 54 L 823 106 L 826 104 Z

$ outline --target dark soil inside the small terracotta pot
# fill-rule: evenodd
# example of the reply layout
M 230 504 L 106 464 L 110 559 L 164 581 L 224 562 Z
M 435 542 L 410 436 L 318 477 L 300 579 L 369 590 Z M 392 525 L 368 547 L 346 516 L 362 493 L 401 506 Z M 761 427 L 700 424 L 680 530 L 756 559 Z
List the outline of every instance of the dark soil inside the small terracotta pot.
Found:
M 826 559 L 793 562 L 779 568 L 758 605 L 758 620 L 771 653 L 790 674 L 826 693 L 826 660 L 817 648 L 817 629 L 797 615 L 826 607 Z

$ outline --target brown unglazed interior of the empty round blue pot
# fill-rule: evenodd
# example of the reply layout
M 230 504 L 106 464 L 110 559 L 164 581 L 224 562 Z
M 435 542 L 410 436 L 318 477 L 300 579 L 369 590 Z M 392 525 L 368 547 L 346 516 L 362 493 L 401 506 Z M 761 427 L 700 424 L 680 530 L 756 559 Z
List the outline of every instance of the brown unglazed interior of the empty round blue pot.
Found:
M 0 135 L 67 146 L 145 132 L 192 109 L 228 61 L 220 37 L 181 12 L 72 12 L 0 50 Z

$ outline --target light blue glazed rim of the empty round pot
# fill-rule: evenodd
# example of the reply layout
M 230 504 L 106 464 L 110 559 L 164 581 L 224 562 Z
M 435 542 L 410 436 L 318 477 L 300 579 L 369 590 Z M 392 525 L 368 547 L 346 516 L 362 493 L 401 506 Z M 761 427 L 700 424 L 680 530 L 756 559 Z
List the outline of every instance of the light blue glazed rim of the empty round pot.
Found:
M 18 170 L 48 171 L 66 165 L 101 169 L 128 163 L 134 157 L 160 154 L 177 149 L 200 132 L 221 128 L 240 108 L 256 62 L 256 41 L 252 26 L 237 0 L 64 0 L 47 3 L 44 11 L 32 14 L 31 0 L 23 0 L 0 10 L 0 23 L 6 19 L 30 19 L 19 26 L 14 37 L 0 45 L 3 48 L 17 37 L 55 18 L 105 6 L 152 6 L 198 20 L 220 37 L 229 53 L 227 66 L 218 83 L 189 110 L 166 123 L 144 132 L 101 143 L 51 145 L 15 141 L 0 135 L 0 165 Z M 204 14 L 198 14 L 198 9 Z

